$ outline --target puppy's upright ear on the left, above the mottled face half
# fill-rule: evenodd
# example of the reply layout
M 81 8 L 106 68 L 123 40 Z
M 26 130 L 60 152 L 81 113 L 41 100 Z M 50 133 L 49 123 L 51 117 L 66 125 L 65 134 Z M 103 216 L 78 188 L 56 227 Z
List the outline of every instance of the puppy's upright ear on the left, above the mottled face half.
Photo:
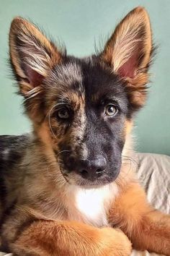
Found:
M 42 90 L 42 80 L 49 70 L 61 62 L 61 54 L 35 25 L 21 17 L 12 21 L 9 47 L 20 93 L 25 98 L 34 97 Z

